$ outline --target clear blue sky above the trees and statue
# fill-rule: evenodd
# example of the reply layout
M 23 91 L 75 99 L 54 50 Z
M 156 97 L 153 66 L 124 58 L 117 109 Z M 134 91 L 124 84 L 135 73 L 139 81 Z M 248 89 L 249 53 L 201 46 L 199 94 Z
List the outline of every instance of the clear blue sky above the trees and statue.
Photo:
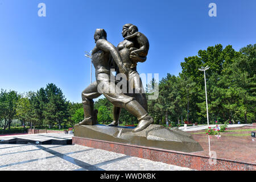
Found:
M 46 4 L 46 17 L 38 4 Z M 210 17 L 209 3 L 217 5 Z M 125 23 L 138 26 L 150 41 L 139 73 L 178 75 L 184 57 L 222 44 L 236 51 L 256 40 L 255 0 L 0 0 L 0 88 L 19 93 L 54 83 L 67 100 L 81 102 L 90 83 L 96 28 L 104 28 L 115 46 Z M 93 73 L 93 80 L 95 76 Z

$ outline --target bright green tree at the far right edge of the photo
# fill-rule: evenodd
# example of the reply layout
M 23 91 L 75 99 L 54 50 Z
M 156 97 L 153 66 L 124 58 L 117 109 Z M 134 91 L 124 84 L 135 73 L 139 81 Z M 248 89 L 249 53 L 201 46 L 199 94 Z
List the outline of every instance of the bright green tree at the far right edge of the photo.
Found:
M 218 81 L 219 93 L 225 113 L 230 119 L 247 123 L 255 119 L 256 90 L 256 44 L 240 49 L 240 56 L 232 64 L 226 65 Z M 224 96 L 224 97 L 223 97 Z

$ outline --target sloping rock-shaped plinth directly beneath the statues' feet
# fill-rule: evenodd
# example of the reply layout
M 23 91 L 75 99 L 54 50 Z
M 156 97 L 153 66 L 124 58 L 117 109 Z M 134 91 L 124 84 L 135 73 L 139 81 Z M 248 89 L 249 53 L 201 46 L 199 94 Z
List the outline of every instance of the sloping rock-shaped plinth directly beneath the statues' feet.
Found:
M 137 133 L 131 132 L 130 127 L 114 127 L 105 125 L 76 125 L 74 137 L 106 140 L 162 148 L 174 151 L 196 152 L 203 148 L 190 134 L 184 131 L 169 130 L 160 125 L 150 125 Z

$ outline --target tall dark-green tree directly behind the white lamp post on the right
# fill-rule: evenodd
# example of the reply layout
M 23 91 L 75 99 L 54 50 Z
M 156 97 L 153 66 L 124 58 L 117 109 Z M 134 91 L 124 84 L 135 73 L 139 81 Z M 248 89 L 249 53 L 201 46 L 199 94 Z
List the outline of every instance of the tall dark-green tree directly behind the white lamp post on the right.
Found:
M 181 63 L 183 75 L 196 83 L 196 92 L 191 96 L 191 101 L 195 104 L 191 106 L 191 112 L 189 112 L 190 115 L 193 115 L 193 118 L 205 122 L 207 114 L 205 108 L 204 74 L 199 71 L 199 68 L 207 65 L 210 67 L 210 69 L 205 72 L 207 78 L 208 106 L 209 113 L 217 118 L 218 115 L 216 115 L 216 113 L 218 113 L 218 107 L 217 102 L 215 102 L 217 95 L 213 94 L 215 92 L 214 89 L 218 88 L 216 84 L 224 74 L 224 69 L 229 67 L 240 55 L 241 53 L 234 51 L 230 45 L 223 49 L 221 44 L 217 44 L 214 47 L 208 47 L 207 50 L 200 50 L 198 56 L 187 57 L 184 59 L 185 61 Z M 214 106 L 211 106 L 212 102 L 215 102 Z M 213 118 L 210 117 L 209 119 L 211 120 Z

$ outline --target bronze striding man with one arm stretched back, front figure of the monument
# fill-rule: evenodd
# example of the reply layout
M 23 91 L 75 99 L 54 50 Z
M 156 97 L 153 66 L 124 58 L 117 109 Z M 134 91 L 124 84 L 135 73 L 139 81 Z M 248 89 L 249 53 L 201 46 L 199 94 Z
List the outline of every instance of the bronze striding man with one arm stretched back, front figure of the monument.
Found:
M 115 107 L 125 108 L 130 114 L 138 118 L 139 124 L 132 130 L 133 132 L 145 129 L 154 122 L 154 119 L 134 97 L 126 96 L 121 89 L 115 86 L 114 82 L 110 81 L 110 77 L 113 76 L 110 72 L 111 59 L 117 65 L 119 72 L 124 73 L 127 77 L 130 73 L 129 68 L 123 63 L 117 48 L 108 42 L 104 29 L 97 29 L 95 31 L 94 40 L 96 47 L 92 51 L 92 62 L 95 68 L 96 81 L 82 92 L 84 120 L 79 125 L 94 125 L 96 123 L 97 118 L 95 110 L 93 110 L 93 98 L 104 94 Z

